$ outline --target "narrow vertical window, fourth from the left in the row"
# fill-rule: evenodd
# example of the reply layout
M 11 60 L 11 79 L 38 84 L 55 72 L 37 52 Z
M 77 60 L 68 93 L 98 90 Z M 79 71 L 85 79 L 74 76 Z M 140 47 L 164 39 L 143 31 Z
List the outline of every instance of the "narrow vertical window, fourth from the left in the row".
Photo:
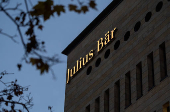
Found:
M 114 112 L 120 112 L 120 80 L 114 85 Z

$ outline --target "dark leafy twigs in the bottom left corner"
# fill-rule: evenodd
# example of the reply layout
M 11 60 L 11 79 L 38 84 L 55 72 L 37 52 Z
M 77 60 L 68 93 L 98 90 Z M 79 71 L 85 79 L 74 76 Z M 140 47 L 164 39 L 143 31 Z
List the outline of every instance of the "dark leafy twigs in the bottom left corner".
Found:
M 2 78 L 9 73 L 1 72 L 0 82 L 5 86 L 5 89 L 0 91 L 0 107 L 2 107 L 0 112 L 23 112 L 26 110 L 29 112 L 29 109 L 33 106 L 33 98 L 30 97 L 31 93 L 24 96 L 24 92 L 28 91 L 28 86 L 23 87 L 17 83 L 17 80 L 5 83 L 2 81 Z M 17 107 L 22 106 L 23 109 L 18 109 Z M 10 109 L 10 110 L 9 110 Z

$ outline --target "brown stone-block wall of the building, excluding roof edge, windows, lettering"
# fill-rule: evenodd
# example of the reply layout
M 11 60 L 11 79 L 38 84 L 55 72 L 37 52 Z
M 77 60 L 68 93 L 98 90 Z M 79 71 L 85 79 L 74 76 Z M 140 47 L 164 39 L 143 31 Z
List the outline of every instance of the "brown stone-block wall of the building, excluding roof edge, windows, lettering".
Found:
M 160 3 L 161 2 L 161 3 Z M 159 5 L 158 5 L 159 4 Z M 162 4 L 162 7 L 161 7 Z M 156 10 L 157 9 L 157 10 Z M 160 9 L 160 10 L 158 10 Z M 146 22 L 146 14 L 151 18 Z M 138 31 L 134 31 L 137 22 Z M 97 53 L 97 41 L 107 31 L 117 28 L 115 39 Z M 125 39 L 126 32 L 130 32 Z M 126 41 L 125 41 L 126 40 Z M 120 45 L 118 44 L 120 41 Z M 160 45 L 165 45 L 165 59 L 161 59 Z M 118 47 L 115 50 L 115 47 Z M 65 112 L 163 112 L 163 105 L 170 105 L 170 0 L 123 0 L 98 24 L 67 56 L 67 68 L 73 68 L 80 57 L 94 50 L 93 59 L 66 84 Z M 110 49 L 110 55 L 104 58 Z M 148 85 L 148 55 L 153 52 L 154 86 Z M 101 58 L 99 66 L 96 60 Z M 161 79 L 162 61 L 166 61 L 167 74 Z M 142 96 L 137 98 L 137 64 L 141 62 Z M 87 69 L 92 67 L 89 75 Z M 130 72 L 131 104 L 125 105 L 125 74 Z M 116 110 L 115 83 L 120 82 L 120 110 Z M 105 92 L 109 90 L 109 110 L 105 109 Z M 88 107 L 88 109 L 87 109 Z M 90 108 L 90 109 L 89 109 Z M 167 110 L 164 110 L 167 112 Z

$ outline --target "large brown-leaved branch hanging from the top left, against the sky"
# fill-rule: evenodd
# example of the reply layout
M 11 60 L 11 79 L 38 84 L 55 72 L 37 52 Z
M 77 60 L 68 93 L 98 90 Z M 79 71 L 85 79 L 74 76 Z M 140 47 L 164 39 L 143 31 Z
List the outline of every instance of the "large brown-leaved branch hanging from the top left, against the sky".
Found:
M 61 60 L 57 55 L 51 57 L 43 55 L 43 53 L 46 52 L 45 42 L 37 39 L 35 29 L 38 28 L 42 31 L 44 28 L 42 20 L 47 21 L 55 14 L 60 16 L 61 13 L 66 12 L 66 8 L 68 8 L 69 11 L 74 11 L 80 14 L 86 13 L 89 11 L 89 8 L 96 9 L 96 3 L 94 0 L 88 0 L 86 2 L 80 2 L 77 0 L 77 4 L 68 4 L 68 6 L 64 6 L 61 4 L 54 5 L 53 0 L 45 0 L 39 1 L 35 6 L 32 6 L 32 9 L 29 9 L 29 5 L 27 4 L 28 0 L 24 0 L 24 2 L 26 10 L 19 8 L 21 4 L 17 4 L 16 7 L 8 7 L 10 0 L 0 0 L 0 12 L 10 18 L 17 27 L 25 51 L 22 58 L 23 61 L 27 64 L 32 64 L 41 74 L 43 74 L 50 70 L 52 71 L 52 66 L 60 63 Z M 13 17 L 10 15 L 9 11 L 17 11 L 19 14 L 16 17 Z M 26 29 L 25 32 L 22 32 L 23 29 Z M 17 43 L 14 39 L 16 36 L 11 36 L 8 33 L 3 32 L 2 29 L 0 29 L 0 34 L 11 38 Z M 17 67 L 21 70 L 22 64 L 18 63 Z

